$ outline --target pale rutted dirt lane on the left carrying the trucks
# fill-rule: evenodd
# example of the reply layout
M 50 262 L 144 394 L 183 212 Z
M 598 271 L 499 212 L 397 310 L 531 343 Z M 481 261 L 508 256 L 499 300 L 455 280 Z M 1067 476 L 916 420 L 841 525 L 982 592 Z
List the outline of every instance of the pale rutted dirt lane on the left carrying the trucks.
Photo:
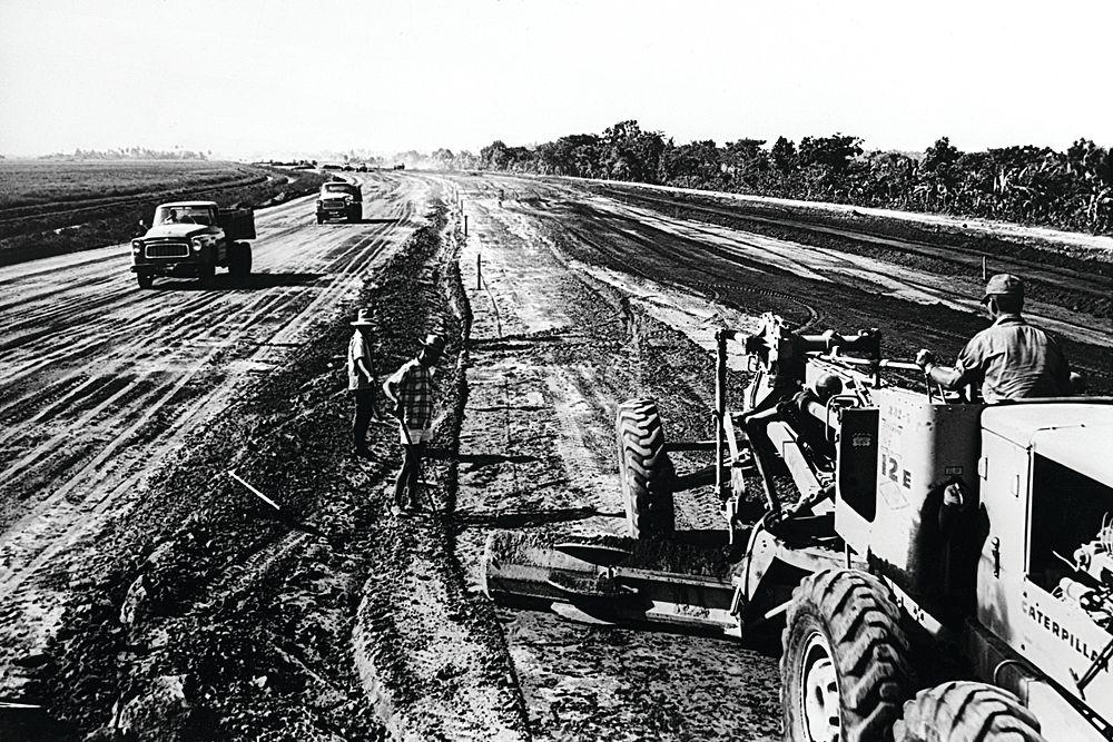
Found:
M 382 176 L 365 194 L 361 225 L 316 226 L 312 199 L 260 211 L 246 287 L 221 273 L 208 290 L 144 291 L 121 247 L 0 269 L 0 696 L 18 696 L 104 516 L 336 319 L 413 229 L 429 184 Z

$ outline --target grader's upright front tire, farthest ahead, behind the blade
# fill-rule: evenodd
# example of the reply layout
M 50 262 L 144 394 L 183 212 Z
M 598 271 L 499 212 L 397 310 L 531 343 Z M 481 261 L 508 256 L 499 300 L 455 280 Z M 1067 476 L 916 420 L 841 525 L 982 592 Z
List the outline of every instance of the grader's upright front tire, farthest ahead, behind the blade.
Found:
M 627 523 L 634 538 L 651 538 L 676 530 L 672 487 L 676 471 L 664 451 L 664 428 L 651 399 L 619 405 L 615 423 L 619 478 Z

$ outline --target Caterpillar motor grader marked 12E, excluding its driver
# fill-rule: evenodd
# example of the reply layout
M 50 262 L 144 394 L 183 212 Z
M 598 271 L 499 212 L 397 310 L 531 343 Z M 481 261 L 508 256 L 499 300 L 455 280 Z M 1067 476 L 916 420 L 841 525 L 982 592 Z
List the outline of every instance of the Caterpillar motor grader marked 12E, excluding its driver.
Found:
M 667 442 L 651 400 L 619 407 L 630 535 L 494 532 L 486 594 L 593 623 L 780 629 L 786 740 L 1113 739 L 1113 398 L 925 394 L 888 378 L 916 367 L 884 359 L 876 330 L 774 315 L 716 338 L 715 439 Z M 680 473 L 676 452 L 711 463 Z M 674 495 L 709 486 L 725 527 L 677 530 Z

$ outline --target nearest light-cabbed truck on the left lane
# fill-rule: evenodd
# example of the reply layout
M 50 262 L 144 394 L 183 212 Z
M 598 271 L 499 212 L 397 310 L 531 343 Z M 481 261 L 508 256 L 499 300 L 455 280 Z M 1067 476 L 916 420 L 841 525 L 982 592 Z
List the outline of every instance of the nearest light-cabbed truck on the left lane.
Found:
M 252 275 L 255 211 L 221 209 L 215 201 L 175 201 L 155 209 L 151 226 L 131 240 L 131 271 L 139 288 L 150 288 L 159 276 L 186 276 L 211 283 L 217 267 L 232 278 Z

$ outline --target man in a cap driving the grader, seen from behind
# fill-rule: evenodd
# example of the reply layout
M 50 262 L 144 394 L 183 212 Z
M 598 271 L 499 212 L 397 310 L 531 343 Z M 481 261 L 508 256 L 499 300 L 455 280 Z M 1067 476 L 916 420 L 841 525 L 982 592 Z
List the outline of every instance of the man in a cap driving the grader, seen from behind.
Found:
M 982 304 L 993 325 L 971 338 L 953 368 L 938 365 L 930 350 L 916 354 L 928 382 L 948 389 L 981 384 L 982 397 L 991 404 L 1070 395 L 1071 367 L 1058 343 L 1021 316 L 1024 283 L 997 274 L 986 283 Z

